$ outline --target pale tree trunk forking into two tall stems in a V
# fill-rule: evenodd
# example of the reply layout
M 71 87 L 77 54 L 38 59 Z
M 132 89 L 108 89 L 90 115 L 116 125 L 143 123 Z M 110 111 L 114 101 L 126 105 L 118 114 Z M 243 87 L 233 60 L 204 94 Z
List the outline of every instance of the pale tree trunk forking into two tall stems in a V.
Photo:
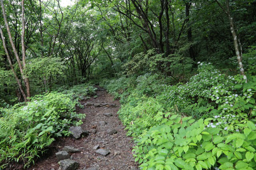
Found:
M 26 51 L 25 51 L 25 44 L 24 44 L 24 33 L 25 33 L 25 20 L 24 20 L 24 0 L 23 1 L 23 5 L 22 5 L 22 37 L 21 37 L 21 41 L 22 41 L 22 62 L 23 62 L 23 65 L 26 64 L 25 62 L 25 57 L 26 57 Z M 24 80 L 25 82 L 25 86 L 26 86 L 26 92 L 27 92 L 27 97 L 30 97 L 30 87 L 29 87 L 29 82 L 28 82 L 28 78 L 25 77 L 25 75 L 23 74 L 23 70 L 24 68 L 22 67 L 22 64 L 20 62 L 20 58 L 18 56 L 18 53 L 17 53 L 17 50 L 16 50 L 16 47 L 14 45 L 14 42 L 12 40 L 12 35 L 11 35 L 11 31 L 10 31 L 10 27 L 8 25 L 8 21 L 7 21 L 7 18 L 6 18 L 6 13 L 5 13 L 5 10 L 4 10 L 4 2 L 3 0 L 0 0 L 0 3 L 1 3 L 1 6 L 2 6 L 2 14 L 3 14 L 3 18 L 4 18 L 4 23 L 5 23 L 5 26 L 6 26 L 6 30 L 7 30 L 7 33 L 8 33 L 8 37 L 9 37 L 9 41 L 10 41 L 10 44 L 12 46 L 12 50 L 14 52 L 14 55 L 16 57 L 16 60 L 17 60 L 17 63 L 18 63 L 18 66 L 19 66 L 19 69 L 20 69 L 20 73 L 22 75 L 22 79 Z M 27 81 L 26 81 L 27 80 Z M 25 101 L 27 101 L 27 98 L 25 99 Z

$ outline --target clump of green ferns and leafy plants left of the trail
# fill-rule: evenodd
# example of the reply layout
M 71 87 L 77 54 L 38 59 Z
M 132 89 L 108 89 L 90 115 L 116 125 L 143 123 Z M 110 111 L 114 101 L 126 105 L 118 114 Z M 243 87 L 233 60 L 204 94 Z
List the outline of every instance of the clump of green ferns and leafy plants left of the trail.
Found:
M 0 162 L 23 162 L 28 167 L 54 141 L 69 135 L 70 125 L 80 125 L 84 114 L 74 112 L 77 101 L 69 94 L 50 92 L 31 102 L 0 108 Z

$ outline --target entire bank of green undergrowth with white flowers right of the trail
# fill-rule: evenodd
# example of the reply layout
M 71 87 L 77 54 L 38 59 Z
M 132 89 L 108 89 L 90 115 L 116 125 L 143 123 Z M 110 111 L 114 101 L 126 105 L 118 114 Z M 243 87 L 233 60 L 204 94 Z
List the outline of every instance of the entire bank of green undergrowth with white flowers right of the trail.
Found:
M 205 62 L 186 83 L 168 85 L 156 73 L 105 81 L 120 98 L 119 117 L 137 143 L 140 168 L 255 169 L 254 64 L 248 70 L 248 83 Z

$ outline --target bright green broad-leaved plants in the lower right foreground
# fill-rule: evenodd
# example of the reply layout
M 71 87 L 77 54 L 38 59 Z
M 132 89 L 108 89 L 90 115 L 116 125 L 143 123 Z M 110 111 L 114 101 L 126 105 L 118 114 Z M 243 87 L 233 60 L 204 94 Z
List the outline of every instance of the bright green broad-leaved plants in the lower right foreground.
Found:
M 230 133 L 216 127 L 215 121 L 210 123 L 212 118 L 195 121 L 180 115 L 164 117 L 166 123 L 152 127 L 133 150 L 143 170 L 256 168 L 255 120 L 232 125 L 241 130 Z

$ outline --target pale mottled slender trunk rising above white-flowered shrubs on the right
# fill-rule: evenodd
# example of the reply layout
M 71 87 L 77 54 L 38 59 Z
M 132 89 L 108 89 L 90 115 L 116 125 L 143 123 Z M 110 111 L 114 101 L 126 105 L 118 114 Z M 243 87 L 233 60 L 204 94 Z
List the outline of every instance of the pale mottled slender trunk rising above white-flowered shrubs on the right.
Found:
M 247 77 L 244 73 L 244 67 L 242 64 L 242 47 L 241 47 L 241 51 L 239 49 L 238 46 L 238 38 L 236 35 L 236 31 L 234 29 L 234 20 L 233 17 L 230 14 L 230 8 L 229 8 L 229 0 L 226 0 L 226 6 L 227 6 L 227 10 L 225 10 L 222 5 L 220 4 L 220 2 L 218 2 L 218 0 L 215 0 L 217 2 L 217 4 L 220 6 L 220 8 L 224 11 L 224 13 L 228 16 L 229 22 L 230 22 L 230 30 L 233 36 L 233 40 L 234 40 L 234 47 L 235 47 L 235 51 L 236 51 L 236 57 L 237 57 L 237 61 L 238 61 L 238 65 L 240 68 L 240 73 L 241 75 L 243 75 L 243 78 L 245 80 L 245 82 L 247 83 Z

